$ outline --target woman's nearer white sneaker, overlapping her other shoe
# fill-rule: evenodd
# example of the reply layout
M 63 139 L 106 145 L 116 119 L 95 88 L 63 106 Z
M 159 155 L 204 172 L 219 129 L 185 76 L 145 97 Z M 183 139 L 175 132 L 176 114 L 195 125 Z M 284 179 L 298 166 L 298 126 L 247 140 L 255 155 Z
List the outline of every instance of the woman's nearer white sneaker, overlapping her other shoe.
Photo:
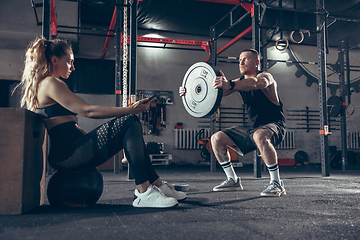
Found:
M 156 186 L 149 186 L 144 193 L 140 193 L 135 189 L 133 201 L 134 207 L 168 208 L 177 204 L 178 201 L 175 198 L 165 196 Z

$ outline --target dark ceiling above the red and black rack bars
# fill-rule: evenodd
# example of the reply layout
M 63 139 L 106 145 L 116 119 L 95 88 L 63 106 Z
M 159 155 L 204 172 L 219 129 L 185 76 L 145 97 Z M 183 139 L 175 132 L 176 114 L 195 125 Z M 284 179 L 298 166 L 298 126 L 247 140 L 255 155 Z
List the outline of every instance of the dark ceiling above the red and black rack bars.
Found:
M 246 1 L 243 0 L 243 2 Z M 100 25 L 108 28 L 114 11 L 114 2 L 115 0 L 81 0 L 82 25 Z M 236 6 L 218 2 L 220 1 L 142 0 L 138 4 L 138 29 L 209 37 L 210 27 L 217 24 Z M 253 1 L 248 0 L 248 2 Z M 302 44 L 316 45 L 315 0 L 263 0 L 261 2 L 265 12 L 261 27 L 267 30 L 268 41 L 276 41 L 281 37 L 289 39 L 291 31 L 303 29 L 309 30 L 310 36 L 305 34 Z M 292 11 L 294 9 L 297 12 Z M 246 13 L 244 8 L 237 7 L 233 10 L 233 22 Z M 323 13 L 328 15 L 328 46 L 337 47 L 341 40 L 348 38 L 350 47 L 358 47 L 360 0 L 325 0 Z M 229 23 L 230 19 L 225 18 L 217 24 L 217 35 L 228 29 Z M 248 16 L 222 36 L 236 37 L 249 26 L 251 26 L 251 18 Z M 300 36 L 295 33 L 295 37 Z M 251 34 L 248 34 L 246 38 L 250 39 Z

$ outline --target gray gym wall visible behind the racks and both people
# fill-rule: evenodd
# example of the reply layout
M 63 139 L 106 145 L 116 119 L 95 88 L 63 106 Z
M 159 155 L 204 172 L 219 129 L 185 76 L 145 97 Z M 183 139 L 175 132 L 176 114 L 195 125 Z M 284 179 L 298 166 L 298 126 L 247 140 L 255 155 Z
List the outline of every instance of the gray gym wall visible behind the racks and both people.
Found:
M 70 4 L 70 5 L 69 5 Z M 60 25 L 76 25 L 76 7 L 73 3 L 56 1 L 58 24 Z M 16 16 L 10 14 L 12 9 L 20 9 Z M 14 16 L 13 16 L 14 15 Z M 18 16 L 22 17 L 19 18 Z M 41 14 L 40 14 L 41 15 Z M 6 18 L 6 19 L 5 19 Z M 30 41 L 41 35 L 41 27 L 35 25 L 35 17 L 30 3 L 23 3 L 20 0 L 1 1 L 0 3 L 0 22 L 6 20 L 9 24 L 0 24 L 0 79 L 20 80 L 21 70 L 23 68 L 23 55 L 25 48 Z M 143 36 L 143 32 L 139 31 L 139 36 Z M 73 36 L 60 35 L 61 38 L 73 38 Z M 207 41 L 208 38 L 168 34 L 163 35 L 165 38 L 189 39 Z M 72 39 L 74 40 L 74 39 Z M 218 48 L 226 44 L 230 39 L 221 39 Z M 76 57 L 82 58 L 100 58 L 104 38 L 83 36 L 80 38 L 80 51 Z M 143 44 L 143 43 L 141 43 Z M 147 43 L 145 45 L 151 45 Z M 159 44 L 156 44 L 159 45 Z M 224 51 L 222 56 L 238 56 L 239 52 L 244 48 L 251 46 L 250 41 L 241 40 L 235 45 Z M 316 47 L 291 44 L 293 51 L 296 53 L 300 61 L 317 62 Z M 200 49 L 200 47 L 196 47 Z M 138 73 L 138 89 L 142 90 L 165 90 L 173 91 L 174 104 L 167 105 L 167 121 L 166 128 L 161 132 L 161 136 L 145 135 L 145 141 L 162 142 L 165 144 L 165 151 L 173 155 L 173 161 L 180 163 L 197 163 L 200 158 L 198 150 L 176 150 L 174 149 L 174 128 L 177 122 L 182 122 L 184 128 L 197 128 L 199 119 L 191 117 L 182 106 L 181 98 L 178 97 L 178 87 L 182 83 L 186 70 L 199 61 L 204 61 L 208 57 L 205 51 L 186 51 L 162 48 L 139 47 L 137 49 L 137 73 Z M 114 42 L 110 43 L 107 53 L 107 59 L 114 59 Z M 357 50 L 351 51 L 351 65 L 360 65 L 360 53 Z M 280 53 L 274 50 L 274 46 L 269 44 L 268 58 L 277 60 L 288 60 L 287 53 Z M 328 62 L 335 63 L 337 60 L 337 49 L 330 49 Z M 317 74 L 316 65 L 306 65 L 309 71 Z M 228 79 L 238 77 L 237 64 L 219 63 L 218 68 L 222 69 Z M 287 110 L 305 109 L 309 107 L 313 110 L 319 109 L 318 85 L 307 85 L 305 76 L 295 77 L 297 71 L 296 66 L 287 66 L 286 63 L 277 63 L 269 72 L 274 75 L 278 82 L 278 90 L 281 100 L 284 103 L 285 115 L 288 118 Z M 328 74 L 331 72 L 329 71 Z M 351 73 L 351 79 L 355 79 L 357 72 Z M 338 75 L 329 76 L 329 82 L 337 83 Z M 337 92 L 339 95 L 339 92 Z M 90 104 L 115 105 L 113 95 L 86 95 L 79 94 Z M 330 91 L 328 94 L 330 97 Z M 11 106 L 18 106 L 18 97 L 15 95 L 11 98 Z M 354 92 L 352 95 L 352 103 L 360 106 L 359 94 Z M 242 100 L 238 95 L 233 95 L 223 99 L 222 107 L 242 106 Z M 359 123 L 357 121 L 360 112 L 357 108 L 352 116 L 347 117 L 347 126 L 349 131 L 359 131 Z M 79 118 L 80 125 L 87 131 L 102 123 L 104 120 L 92 120 L 83 117 Z M 287 121 L 289 127 L 297 127 L 295 121 Z M 320 162 L 320 137 L 318 130 L 293 130 L 295 131 L 296 149 L 279 150 L 280 158 L 293 158 L 298 150 L 308 153 L 310 163 Z M 329 136 L 329 144 L 337 146 L 340 149 L 340 131 L 334 130 Z M 241 162 L 251 163 L 252 155 L 240 159 Z

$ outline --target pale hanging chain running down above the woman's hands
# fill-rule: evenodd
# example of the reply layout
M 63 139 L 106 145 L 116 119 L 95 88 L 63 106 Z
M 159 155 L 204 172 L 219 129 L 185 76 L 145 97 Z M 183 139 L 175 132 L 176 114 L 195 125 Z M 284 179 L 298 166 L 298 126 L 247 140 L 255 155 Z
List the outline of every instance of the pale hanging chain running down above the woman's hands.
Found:
M 124 0 L 124 4 L 127 5 L 127 0 Z M 128 28 L 127 28 L 127 7 L 124 7 L 124 30 L 123 30 L 123 107 L 128 106 L 128 86 L 127 86 L 127 79 L 128 79 L 128 69 L 127 69 L 127 62 L 128 62 Z

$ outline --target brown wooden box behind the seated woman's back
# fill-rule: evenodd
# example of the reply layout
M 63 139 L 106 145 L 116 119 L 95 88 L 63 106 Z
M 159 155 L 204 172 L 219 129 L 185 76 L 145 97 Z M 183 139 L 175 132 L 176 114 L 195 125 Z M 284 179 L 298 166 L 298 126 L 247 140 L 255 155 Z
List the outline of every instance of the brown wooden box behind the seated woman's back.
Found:
M 44 127 L 26 109 L 0 108 L 0 214 L 21 214 L 40 205 Z

